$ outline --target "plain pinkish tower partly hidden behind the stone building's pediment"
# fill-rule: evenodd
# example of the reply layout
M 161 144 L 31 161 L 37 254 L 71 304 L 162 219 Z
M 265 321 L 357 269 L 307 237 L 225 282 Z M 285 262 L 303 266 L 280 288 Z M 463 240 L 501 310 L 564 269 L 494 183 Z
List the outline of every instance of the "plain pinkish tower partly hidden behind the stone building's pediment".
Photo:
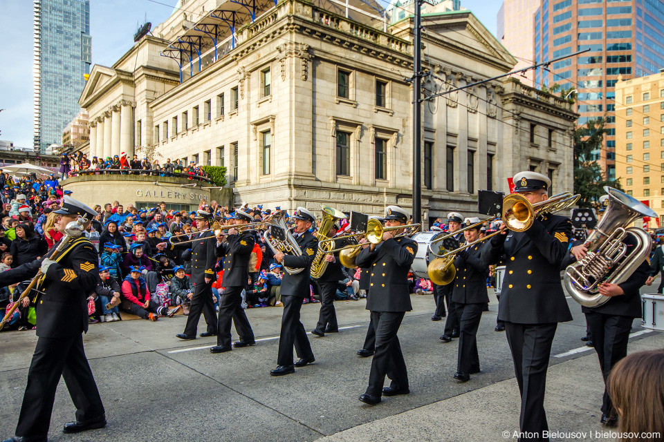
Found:
M 514 70 L 534 64 L 533 19 L 539 7 L 539 0 L 505 0 L 498 10 L 497 37 L 518 60 Z M 532 70 L 524 73 L 523 77 L 525 78 L 519 78 L 522 83 L 533 86 L 535 74 Z

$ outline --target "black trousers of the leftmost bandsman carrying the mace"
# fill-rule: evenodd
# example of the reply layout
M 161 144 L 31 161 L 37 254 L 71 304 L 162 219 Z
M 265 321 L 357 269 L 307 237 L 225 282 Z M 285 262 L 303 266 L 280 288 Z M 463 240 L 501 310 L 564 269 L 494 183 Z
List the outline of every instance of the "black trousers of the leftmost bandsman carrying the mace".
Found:
M 82 334 L 39 338 L 28 370 L 17 436 L 46 437 L 60 376 L 76 407 L 77 421 L 90 421 L 104 414 L 104 405 L 85 357 Z

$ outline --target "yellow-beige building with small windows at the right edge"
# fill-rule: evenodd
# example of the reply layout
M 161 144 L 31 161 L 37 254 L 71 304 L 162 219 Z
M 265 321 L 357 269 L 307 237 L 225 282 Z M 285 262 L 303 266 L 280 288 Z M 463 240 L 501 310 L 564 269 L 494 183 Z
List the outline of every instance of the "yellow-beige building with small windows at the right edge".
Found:
M 616 83 L 616 175 L 664 227 L 664 73 Z

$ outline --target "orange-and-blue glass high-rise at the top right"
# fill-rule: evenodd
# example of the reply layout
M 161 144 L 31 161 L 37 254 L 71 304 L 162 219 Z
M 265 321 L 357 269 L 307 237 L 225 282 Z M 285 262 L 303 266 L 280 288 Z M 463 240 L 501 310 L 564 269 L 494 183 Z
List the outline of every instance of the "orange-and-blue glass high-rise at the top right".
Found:
M 658 73 L 664 66 L 663 0 L 541 0 L 535 12 L 535 61 L 579 50 L 579 57 L 535 71 L 535 87 L 577 91 L 579 124 L 607 118 L 604 146 L 593 153 L 609 179 L 616 177 L 614 86 L 623 79 Z

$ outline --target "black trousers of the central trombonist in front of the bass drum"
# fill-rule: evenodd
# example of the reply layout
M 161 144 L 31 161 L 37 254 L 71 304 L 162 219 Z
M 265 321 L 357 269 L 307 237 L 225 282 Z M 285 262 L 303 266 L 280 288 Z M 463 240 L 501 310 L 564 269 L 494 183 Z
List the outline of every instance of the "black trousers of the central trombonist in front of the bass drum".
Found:
M 382 396 L 385 376 L 391 379 L 390 387 L 395 390 L 408 389 L 408 372 L 403 360 L 397 335 L 405 312 L 371 311 L 371 320 L 376 329 L 376 352 L 371 361 L 367 394 Z

